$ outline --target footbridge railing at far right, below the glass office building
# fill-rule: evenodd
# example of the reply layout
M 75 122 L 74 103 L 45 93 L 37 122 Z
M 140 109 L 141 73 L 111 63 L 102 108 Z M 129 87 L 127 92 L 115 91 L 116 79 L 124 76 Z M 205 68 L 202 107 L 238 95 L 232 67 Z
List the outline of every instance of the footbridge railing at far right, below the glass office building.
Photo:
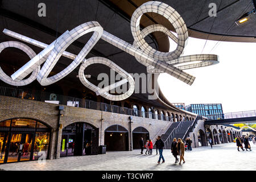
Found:
M 240 112 L 236 112 L 236 113 L 207 115 L 206 117 L 208 117 L 209 120 L 256 117 L 256 110 L 240 111 Z

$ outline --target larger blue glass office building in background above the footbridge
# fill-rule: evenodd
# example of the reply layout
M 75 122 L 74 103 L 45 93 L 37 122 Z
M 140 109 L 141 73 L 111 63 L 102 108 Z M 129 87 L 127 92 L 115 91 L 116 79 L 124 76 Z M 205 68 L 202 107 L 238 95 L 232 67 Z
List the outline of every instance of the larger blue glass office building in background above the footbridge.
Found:
M 191 104 L 185 110 L 211 119 L 221 119 L 224 115 L 221 104 Z

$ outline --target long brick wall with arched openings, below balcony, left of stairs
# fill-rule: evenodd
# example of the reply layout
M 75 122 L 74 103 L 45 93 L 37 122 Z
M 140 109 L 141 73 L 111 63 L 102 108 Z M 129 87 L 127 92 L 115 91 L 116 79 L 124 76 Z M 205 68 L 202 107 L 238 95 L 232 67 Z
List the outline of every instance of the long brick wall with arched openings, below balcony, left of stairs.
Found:
M 59 105 L 49 104 L 46 102 L 22 100 L 20 98 L 0 96 L 0 122 L 11 118 L 32 118 L 45 123 L 52 128 L 50 158 L 53 159 L 55 152 L 55 140 L 57 123 L 59 119 Z M 99 129 L 99 144 L 104 144 L 104 131 L 109 126 L 121 125 L 130 131 L 129 115 L 109 113 L 100 110 L 84 109 L 79 107 L 64 106 L 61 111 L 63 116 L 60 117 L 60 124 L 65 126 L 75 122 L 86 122 Z M 102 120 L 103 119 L 103 120 Z M 134 117 L 131 123 L 131 131 L 136 127 L 144 127 L 150 133 L 150 138 L 167 125 L 167 121 L 159 121 L 157 119 L 149 119 L 142 117 Z M 59 130 L 59 140 L 57 142 L 57 158 L 60 154 L 62 129 Z M 132 138 L 132 137 L 131 137 Z M 129 143 L 130 133 L 129 133 Z

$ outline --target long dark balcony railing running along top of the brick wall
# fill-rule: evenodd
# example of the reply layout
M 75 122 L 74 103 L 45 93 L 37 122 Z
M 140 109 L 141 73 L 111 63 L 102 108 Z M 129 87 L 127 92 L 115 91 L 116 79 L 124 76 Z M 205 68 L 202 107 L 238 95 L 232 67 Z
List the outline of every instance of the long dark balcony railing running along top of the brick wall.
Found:
M 81 107 L 86 109 L 102 110 L 102 111 L 111 112 L 111 113 L 134 115 L 137 117 L 158 119 L 162 121 L 170 121 L 170 122 L 172 121 L 172 117 L 169 117 L 163 114 L 154 114 L 152 112 L 140 111 L 137 109 L 129 109 L 126 107 L 109 105 L 102 102 L 90 101 L 90 100 L 86 100 L 85 98 L 63 96 L 59 94 L 43 92 L 40 90 L 31 90 L 31 89 L 24 89 L 24 88 L 17 89 L 17 88 L 7 88 L 7 87 L 0 86 L 0 95 L 22 98 L 27 100 L 47 102 L 47 103 L 57 104 L 57 105 L 67 105 L 67 106 Z

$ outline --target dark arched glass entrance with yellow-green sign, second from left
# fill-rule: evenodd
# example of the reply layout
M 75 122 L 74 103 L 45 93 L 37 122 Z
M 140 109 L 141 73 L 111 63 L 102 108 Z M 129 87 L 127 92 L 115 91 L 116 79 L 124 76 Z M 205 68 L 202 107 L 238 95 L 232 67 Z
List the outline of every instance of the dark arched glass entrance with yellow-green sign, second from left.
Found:
M 62 130 L 60 157 L 97 155 L 98 129 L 84 122 L 72 123 Z

